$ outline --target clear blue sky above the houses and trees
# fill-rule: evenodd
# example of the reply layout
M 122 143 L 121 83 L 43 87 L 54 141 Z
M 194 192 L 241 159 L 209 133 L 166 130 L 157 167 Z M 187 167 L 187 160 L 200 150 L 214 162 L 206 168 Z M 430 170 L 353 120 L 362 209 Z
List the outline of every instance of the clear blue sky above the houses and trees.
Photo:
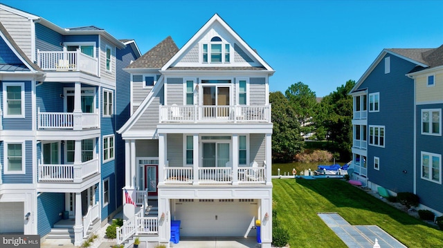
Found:
M 359 80 L 383 48 L 443 44 L 443 1 L 1 0 L 62 28 L 98 26 L 141 53 L 170 35 L 179 48 L 218 13 L 275 70 L 271 91 L 296 82 L 318 97 Z

